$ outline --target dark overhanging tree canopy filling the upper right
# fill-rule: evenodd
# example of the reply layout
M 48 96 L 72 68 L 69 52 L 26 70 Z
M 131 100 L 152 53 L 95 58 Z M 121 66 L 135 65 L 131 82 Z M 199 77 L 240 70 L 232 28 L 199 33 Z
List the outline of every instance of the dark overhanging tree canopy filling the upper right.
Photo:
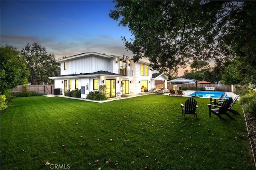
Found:
M 236 76 L 256 83 L 254 1 L 115 1 L 110 18 L 128 27 L 121 37 L 134 61 L 148 57 L 156 70 L 177 70 L 192 60 L 236 61 Z M 256 74 L 254 74 L 256 75 Z

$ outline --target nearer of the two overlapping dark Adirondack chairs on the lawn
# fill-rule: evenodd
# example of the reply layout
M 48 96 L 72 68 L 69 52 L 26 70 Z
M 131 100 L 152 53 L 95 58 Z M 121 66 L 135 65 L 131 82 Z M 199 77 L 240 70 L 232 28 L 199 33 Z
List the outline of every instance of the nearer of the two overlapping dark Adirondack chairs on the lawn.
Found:
M 232 103 L 233 99 L 232 98 L 229 98 L 227 100 L 225 100 L 221 106 L 219 105 L 212 105 L 212 104 L 208 104 L 208 107 L 209 107 L 209 116 L 211 117 L 212 116 L 212 113 L 218 117 L 220 117 L 220 119 L 222 120 L 225 120 L 223 117 L 221 117 L 221 115 L 226 115 L 228 116 L 230 119 L 232 120 L 236 120 L 234 119 L 233 117 L 231 117 L 227 111 L 228 111 L 228 108 L 230 107 L 230 104 Z M 212 106 L 214 107 L 218 107 L 218 108 L 213 108 L 212 109 Z

